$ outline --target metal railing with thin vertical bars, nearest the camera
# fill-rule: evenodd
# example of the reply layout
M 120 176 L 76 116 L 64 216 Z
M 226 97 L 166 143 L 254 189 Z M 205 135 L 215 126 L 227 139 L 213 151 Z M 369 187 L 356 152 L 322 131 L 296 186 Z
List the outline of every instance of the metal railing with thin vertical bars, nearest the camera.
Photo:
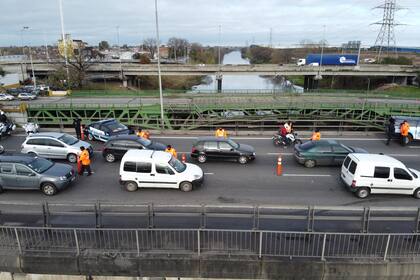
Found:
M 412 260 L 420 257 L 420 234 L 0 227 L 0 251 L 49 256 L 178 254 Z

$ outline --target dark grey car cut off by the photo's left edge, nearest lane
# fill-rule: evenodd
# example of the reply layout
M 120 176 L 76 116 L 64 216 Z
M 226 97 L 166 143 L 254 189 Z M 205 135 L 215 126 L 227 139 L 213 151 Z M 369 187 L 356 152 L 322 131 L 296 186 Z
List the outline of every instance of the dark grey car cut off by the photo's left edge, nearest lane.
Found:
M 54 195 L 75 178 L 76 172 L 68 164 L 24 154 L 0 155 L 0 191 L 41 190 Z

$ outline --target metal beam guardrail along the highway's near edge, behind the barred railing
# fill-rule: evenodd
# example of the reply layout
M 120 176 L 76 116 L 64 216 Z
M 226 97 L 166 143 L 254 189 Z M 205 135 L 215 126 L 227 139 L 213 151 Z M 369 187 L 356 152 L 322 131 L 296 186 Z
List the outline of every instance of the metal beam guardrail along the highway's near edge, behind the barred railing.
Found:
M 0 202 L 2 225 L 420 233 L 420 208 Z M 29 222 L 28 222 L 29 221 Z M 128 225 L 128 226 L 127 226 Z

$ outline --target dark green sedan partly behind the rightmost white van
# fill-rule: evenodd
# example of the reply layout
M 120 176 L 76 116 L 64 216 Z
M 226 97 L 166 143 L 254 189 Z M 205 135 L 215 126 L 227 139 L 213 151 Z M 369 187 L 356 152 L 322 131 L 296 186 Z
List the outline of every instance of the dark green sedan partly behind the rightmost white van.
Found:
M 367 151 L 346 146 L 335 140 L 308 141 L 296 145 L 294 149 L 296 161 L 308 168 L 317 165 L 340 166 L 349 153 L 367 153 Z

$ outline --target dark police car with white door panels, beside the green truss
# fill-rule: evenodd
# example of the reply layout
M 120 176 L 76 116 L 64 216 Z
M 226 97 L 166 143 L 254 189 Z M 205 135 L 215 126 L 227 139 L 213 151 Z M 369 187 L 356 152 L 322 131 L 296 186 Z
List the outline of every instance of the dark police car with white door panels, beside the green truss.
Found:
M 116 119 L 102 120 L 91 123 L 84 130 L 87 138 L 106 142 L 111 136 L 128 135 L 130 130 Z

